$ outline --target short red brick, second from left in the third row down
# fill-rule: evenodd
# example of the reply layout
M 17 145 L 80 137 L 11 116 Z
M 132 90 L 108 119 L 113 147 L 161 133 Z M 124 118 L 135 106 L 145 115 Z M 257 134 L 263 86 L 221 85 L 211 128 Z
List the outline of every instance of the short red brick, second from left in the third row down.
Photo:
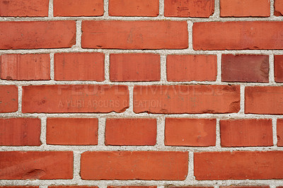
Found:
M 54 54 L 54 79 L 56 81 L 104 81 L 104 54 Z

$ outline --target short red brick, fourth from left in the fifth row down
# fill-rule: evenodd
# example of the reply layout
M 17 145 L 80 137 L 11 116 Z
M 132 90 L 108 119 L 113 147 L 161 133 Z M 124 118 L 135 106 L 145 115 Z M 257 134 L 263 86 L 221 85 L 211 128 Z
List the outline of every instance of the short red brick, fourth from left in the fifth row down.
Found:
M 166 118 L 166 146 L 215 146 L 216 119 Z

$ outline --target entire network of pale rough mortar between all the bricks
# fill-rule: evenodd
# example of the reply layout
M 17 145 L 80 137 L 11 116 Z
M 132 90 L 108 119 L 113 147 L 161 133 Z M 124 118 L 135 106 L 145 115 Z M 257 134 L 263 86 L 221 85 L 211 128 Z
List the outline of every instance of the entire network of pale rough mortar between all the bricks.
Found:
M 277 0 L 278 1 L 278 0 Z M 226 21 L 283 21 L 282 16 L 274 16 L 274 0 L 270 0 L 270 17 L 258 18 L 221 18 L 219 0 L 214 2 L 214 14 L 209 18 L 169 18 L 164 16 L 164 1 L 159 0 L 159 15 L 156 17 L 121 17 L 108 16 L 108 0 L 104 0 L 104 15 L 98 17 L 54 17 L 53 0 L 50 0 L 47 17 L 0 17 L 0 23 L 6 21 L 31 21 L 31 20 L 76 20 L 76 45 L 63 49 L 0 49 L 1 54 L 50 54 L 50 80 L 49 81 L 10 81 L 0 80 L 0 85 L 18 86 L 18 111 L 1 113 L 1 118 L 34 117 L 41 119 L 41 146 L 0 146 L 0 151 L 73 151 L 74 152 L 74 177 L 71 180 L 0 180 L 1 186 L 40 186 L 47 188 L 50 185 L 88 185 L 106 188 L 108 186 L 157 186 L 158 188 L 168 186 L 198 186 L 198 187 L 222 187 L 222 186 L 270 186 L 271 188 L 283 185 L 283 180 L 196 180 L 194 176 L 194 153 L 213 151 L 283 151 L 283 147 L 277 146 L 277 119 L 282 119 L 283 114 L 245 114 L 245 88 L 247 86 L 283 86 L 283 83 L 276 83 L 274 79 L 274 55 L 283 55 L 283 50 L 278 49 L 243 49 L 243 50 L 194 50 L 192 47 L 192 25 L 200 22 L 226 22 Z M 81 47 L 81 24 L 82 20 L 174 20 L 187 22 L 188 47 L 186 49 L 83 49 Z M 209 30 L 209 28 L 207 28 Z M 105 81 L 54 81 L 54 54 L 62 52 L 101 52 L 105 54 Z M 153 53 L 159 54 L 161 58 L 161 81 L 151 82 L 112 82 L 110 81 L 110 54 L 120 53 Z M 166 56 L 168 54 L 214 54 L 217 56 L 217 77 L 216 81 L 188 81 L 169 82 L 166 76 Z M 269 56 L 269 82 L 268 83 L 238 83 L 221 81 L 221 55 L 222 54 L 263 54 Z M 110 113 L 23 113 L 22 97 L 23 86 L 40 85 L 123 85 L 129 89 L 129 108 L 125 112 Z M 134 86 L 155 86 L 155 85 L 225 85 L 240 86 L 240 107 L 236 113 L 231 114 L 148 114 L 134 113 Z M 98 145 L 96 146 L 57 146 L 47 145 L 46 127 L 47 118 L 98 118 Z M 194 118 L 194 119 L 216 119 L 216 145 L 209 147 L 192 146 L 165 146 L 164 131 L 165 120 L 170 118 Z M 155 146 L 105 146 L 105 122 L 108 118 L 154 118 L 157 120 L 157 135 Z M 266 147 L 221 147 L 220 125 L 221 119 L 272 119 L 272 133 L 274 146 Z M 187 151 L 188 172 L 185 180 L 82 180 L 80 176 L 81 154 L 86 151 Z M 283 165 L 283 164 L 282 164 Z

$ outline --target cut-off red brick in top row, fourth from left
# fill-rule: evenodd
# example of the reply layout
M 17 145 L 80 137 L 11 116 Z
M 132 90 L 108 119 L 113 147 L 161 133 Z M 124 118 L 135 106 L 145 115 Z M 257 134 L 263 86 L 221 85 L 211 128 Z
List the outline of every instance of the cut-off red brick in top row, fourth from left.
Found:
M 165 0 L 164 16 L 209 18 L 214 13 L 214 0 Z

